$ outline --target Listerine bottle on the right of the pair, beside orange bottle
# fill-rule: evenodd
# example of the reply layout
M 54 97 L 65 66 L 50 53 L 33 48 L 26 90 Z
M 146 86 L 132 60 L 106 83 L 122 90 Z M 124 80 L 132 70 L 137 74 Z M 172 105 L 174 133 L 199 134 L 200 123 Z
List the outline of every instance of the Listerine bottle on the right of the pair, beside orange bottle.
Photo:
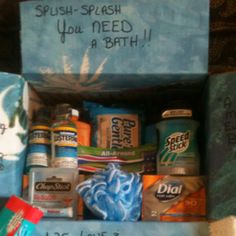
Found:
M 59 104 L 55 109 L 52 125 L 52 166 L 58 168 L 78 168 L 77 127 L 71 120 L 69 104 Z

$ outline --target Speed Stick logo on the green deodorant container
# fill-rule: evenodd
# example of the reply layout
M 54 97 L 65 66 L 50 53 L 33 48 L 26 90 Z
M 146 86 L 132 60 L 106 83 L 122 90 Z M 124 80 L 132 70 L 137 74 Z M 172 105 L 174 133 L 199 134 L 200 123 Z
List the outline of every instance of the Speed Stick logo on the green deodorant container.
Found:
M 169 152 L 181 153 L 188 149 L 190 132 L 175 132 L 166 139 L 166 147 Z

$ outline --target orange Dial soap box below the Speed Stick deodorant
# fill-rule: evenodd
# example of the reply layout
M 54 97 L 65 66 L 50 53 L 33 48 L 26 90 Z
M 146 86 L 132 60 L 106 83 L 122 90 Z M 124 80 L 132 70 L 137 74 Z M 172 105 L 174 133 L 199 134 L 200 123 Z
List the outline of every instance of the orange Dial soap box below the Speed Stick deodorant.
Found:
M 142 220 L 205 221 L 205 177 L 144 175 Z

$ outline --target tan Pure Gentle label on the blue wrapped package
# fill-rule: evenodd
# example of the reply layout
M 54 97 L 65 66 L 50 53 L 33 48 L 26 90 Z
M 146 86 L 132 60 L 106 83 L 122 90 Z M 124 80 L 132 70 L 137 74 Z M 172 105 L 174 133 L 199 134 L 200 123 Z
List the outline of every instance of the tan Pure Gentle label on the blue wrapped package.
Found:
M 102 148 L 128 148 L 139 145 L 138 115 L 99 115 L 98 146 Z

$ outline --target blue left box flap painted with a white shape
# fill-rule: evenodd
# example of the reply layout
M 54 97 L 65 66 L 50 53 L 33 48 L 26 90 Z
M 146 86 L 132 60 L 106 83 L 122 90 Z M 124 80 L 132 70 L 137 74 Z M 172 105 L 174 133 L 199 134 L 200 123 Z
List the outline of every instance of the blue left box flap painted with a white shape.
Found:
M 0 197 L 20 195 L 28 132 L 28 86 L 0 73 Z

